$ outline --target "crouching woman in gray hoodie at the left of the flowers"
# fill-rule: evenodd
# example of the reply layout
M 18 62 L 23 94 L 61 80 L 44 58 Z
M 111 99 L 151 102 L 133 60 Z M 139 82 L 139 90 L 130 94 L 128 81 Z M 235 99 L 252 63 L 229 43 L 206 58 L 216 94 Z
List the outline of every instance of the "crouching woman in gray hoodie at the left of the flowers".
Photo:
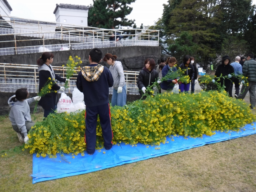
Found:
M 12 122 L 12 128 L 17 132 L 20 142 L 28 142 L 28 131 L 34 126 L 31 120 L 29 105 L 34 101 L 39 101 L 41 97 L 29 98 L 27 87 L 18 89 L 15 95 L 10 97 L 8 104 L 10 107 L 9 119 Z

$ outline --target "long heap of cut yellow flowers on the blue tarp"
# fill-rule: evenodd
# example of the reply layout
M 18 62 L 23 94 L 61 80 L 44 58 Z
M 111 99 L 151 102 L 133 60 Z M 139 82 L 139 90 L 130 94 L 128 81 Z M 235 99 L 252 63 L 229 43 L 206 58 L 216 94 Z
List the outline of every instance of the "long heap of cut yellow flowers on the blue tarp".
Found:
M 244 101 L 218 91 L 152 95 L 124 107 L 111 107 L 110 111 L 114 144 L 160 145 L 166 142 L 166 136 L 196 138 L 211 136 L 214 131 L 239 131 L 255 120 Z M 84 113 L 51 114 L 37 122 L 28 133 L 25 148 L 31 154 L 37 153 L 37 157 L 56 157 L 57 153 L 84 155 Z M 99 119 L 96 134 L 96 147 L 103 148 Z

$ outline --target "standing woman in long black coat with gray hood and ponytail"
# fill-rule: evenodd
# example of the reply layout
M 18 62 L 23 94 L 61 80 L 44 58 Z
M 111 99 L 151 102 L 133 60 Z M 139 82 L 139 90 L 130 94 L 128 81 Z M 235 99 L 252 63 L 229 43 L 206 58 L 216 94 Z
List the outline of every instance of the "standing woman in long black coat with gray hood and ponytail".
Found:
M 47 117 L 50 113 L 53 113 L 57 108 L 58 94 L 57 90 L 64 91 L 64 87 L 60 87 L 56 84 L 56 80 L 60 82 L 66 82 L 68 79 L 61 78 L 54 73 L 52 69 L 53 54 L 51 52 L 43 52 L 42 56 L 36 61 L 39 72 L 39 91 L 44 87 L 46 82 L 51 78 L 51 81 L 55 84 L 52 85 L 52 90 L 56 92 L 47 93 L 38 102 L 38 105 L 44 109 L 44 117 Z

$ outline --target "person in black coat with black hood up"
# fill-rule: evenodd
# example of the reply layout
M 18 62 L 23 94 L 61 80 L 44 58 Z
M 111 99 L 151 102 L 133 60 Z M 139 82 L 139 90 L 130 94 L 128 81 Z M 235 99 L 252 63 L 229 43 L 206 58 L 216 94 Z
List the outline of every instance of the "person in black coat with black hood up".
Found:
M 222 57 L 222 61 L 221 64 L 218 65 L 216 72 L 215 72 L 215 76 L 216 77 L 220 77 L 220 75 L 222 74 L 222 76 L 228 76 L 225 77 L 225 79 L 223 79 L 222 77 L 220 77 L 220 85 L 221 87 L 224 85 L 225 86 L 225 91 L 228 92 L 229 87 L 231 85 L 231 80 L 233 80 L 233 77 L 231 74 L 234 74 L 234 68 L 230 65 L 230 58 L 228 55 L 225 55 Z M 217 81 L 218 78 L 215 78 L 213 82 Z

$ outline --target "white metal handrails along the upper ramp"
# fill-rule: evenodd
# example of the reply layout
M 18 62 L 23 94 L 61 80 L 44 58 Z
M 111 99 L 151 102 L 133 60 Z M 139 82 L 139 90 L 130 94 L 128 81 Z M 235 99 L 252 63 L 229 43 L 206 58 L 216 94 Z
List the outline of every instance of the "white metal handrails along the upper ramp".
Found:
M 132 45 L 140 45 L 140 41 L 151 41 L 150 38 L 154 38 L 155 40 L 157 39 L 157 44 L 151 44 L 151 42 L 149 42 L 147 45 L 152 45 L 152 46 L 158 46 L 159 45 L 159 30 L 152 30 L 152 29 L 122 29 L 122 30 L 118 30 L 118 29 L 103 29 L 103 28 L 94 28 L 94 27 L 87 27 L 87 26 L 80 26 L 80 25 L 73 25 L 73 24 L 68 24 L 68 23 L 58 23 L 58 22 L 53 22 L 54 24 L 60 24 L 61 26 L 52 26 L 52 25 L 47 25 L 47 24 L 40 24 L 41 21 L 36 21 L 36 20 L 32 20 L 32 21 L 36 21 L 38 22 L 38 24 L 36 23 L 28 23 L 28 22 L 21 22 L 21 21 L 15 21 L 16 19 L 22 19 L 22 18 L 18 18 L 18 17 L 10 17 L 10 16 L 2 16 L 2 17 L 8 17 L 8 18 L 13 18 L 13 21 L 10 20 L 0 20 L 1 23 L 8 23 L 8 24 L 13 24 L 13 31 L 6 31 L 7 33 L 5 33 L 5 30 L 3 30 L 3 34 L 0 34 L 0 36 L 14 36 L 14 40 L 9 40 L 9 41 L 0 41 L 0 43 L 7 43 L 7 42 L 14 42 L 14 47 L 7 47 L 7 48 L 1 48 L 0 52 L 2 52 L 2 54 L 18 54 L 18 48 L 16 43 L 17 42 L 22 42 L 22 41 L 38 41 L 38 40 L 43 40 L 43 47 L 45 48 L 46 45 L 44 45 L 44 41 L 45 40 L 51 40 L 51 39 L 61 39 L 63 40 L 66 39 L 69 41 L 68 43 L 68 47 L 69 50 L 71 48 L 71 44 L 70 41 L 78 41 L 78 42 L 83 42 L 85 41 L 84 38 L 92 38 L 92 47 L 85 47 L 86 48 L 94 48 L 95 45 L 97 45 L 97 43 L 95 44 L 95 41 L 99 42 L 99 41 L 108 41 L 109 37 L 112 35 L 107 35 L 106 32 L 108 31 L 113 31 L 115 39 L 117 36 L 117 32 L 121 33 L 121 35 L 127 37 L 127 36 L 131 36 L 132 40 L 131 40 L 131 44 Z M 46 21 L 43 21 L 46 22 Z M 15 28 L 15 23 L 16 23 L 16 28 Z M 24 25 L 24 26 L 33 26 L 35 27 L 35 29 L 29 29 L 29 28 L 25 28 L 28 29 L 29 31 L 26 32 L 20 32 L 18 33 L 19 29 L 17 29 L 17 25 Z M 82 29 L 75 29 L 72 27 L 63 27 L 62 25 L 68 25 L 68 26 L 74 26 L 74 27 L 78 27 L 78 28 L 82 28 Z M 38 27 L 38 30 L 37 30 Z M 6 28 L 9 30 L 9 26 L 6 26 Z M 45 31 L 43 31 L 43 28 Z M 84 30 L 84 28 L 90 28 L 89 30 Z M 5 28 L 0 28 L 0 32 L 2 29 Z M 24 29 L 24 28 L 23 28 Z M 41 31 L 40 31 L 41 29 Z M 55 29 L 59 29 L 59 31 L 56 31 Z M 20 29 L 21 31 L 21 29 Z M 106 32 L 105 32 L 106 31 Z M 125 31 L 135 31 L 134 34 L 123 34 Z M 9 33 L 10 32 L 10 33 Z M 79 33 L 79 34 L 78 34 Z M 152 34 L 154 33 L 154 34 Z M 156 35 L 156 34 L 157 35 Z M 59 35 L 60 37 L 56 36 L 52 38 L 52 35 Z M 79 35 L 79 36 L 78 36 Z M 16 40 L 16 36 L 38 36 L 38 39 L 24 39 L 24 40 Z M 79 39 L 77 39 L 77 37 L 79 37 Z M 129 41 L 129 40 L 128 40 Z M 134 44 L 133 44 L 134 41 Z M 87 44 L 90 42 L 86 42 Z M 119 46 L 119 44 L 116 43 L 116 41 L 113 42 L 115 47 Z M 75 43 L 72 43 L 72 45 Z M 53 45 L 57 45 L 57 44 L 52 44 L 52 45 L 47 45 L 47 46 L 53 46 Z M 67 44 L 59 44 L 59 45 L 67 45 Z M 76 45 L 76 44 L 75 44 Z M 105 44 L 106 45 L 106 44 Z M 143 44 L 145 45 L 145 44 Z M 36 45 L 37 46 L 37 45 Z M 108 47 L 111 47 L 112 44 L 109 44 Z M 130 46 L 130 45 L 128 45 Z M 32 46 L 26 46 L 27 48 L 29 48 L 29 50 L 31 50 Z M 33 46 L 34 47 L 34 46 Z M 24 47 L 19 47 L 24 48 Z M 13 49 L 13 50 L 12 50 Z M 32 49 L 33 50 L 33 49 Z M 13 52 L 14 51 L 14 52 Z M 60 50 L 57 50 L 60 51 Z M 40 51 L 41 52 L 41 51 Z M 21 54 L 21 52 L 19 53 Z

